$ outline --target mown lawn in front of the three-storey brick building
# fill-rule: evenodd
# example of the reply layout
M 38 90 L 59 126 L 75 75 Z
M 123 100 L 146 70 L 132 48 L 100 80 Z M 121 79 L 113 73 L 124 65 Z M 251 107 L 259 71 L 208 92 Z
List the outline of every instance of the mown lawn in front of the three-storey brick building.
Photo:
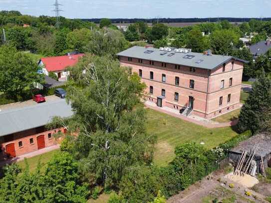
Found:
M 174 159 L 174 149 L 179 144 L 204 142 L 211 149 L 237 135 L 231 127 L 208 129 L 152 109 L 147 109 L 147 117 L 148 134 L 158 137 L 154 164 L 159 166 Z

